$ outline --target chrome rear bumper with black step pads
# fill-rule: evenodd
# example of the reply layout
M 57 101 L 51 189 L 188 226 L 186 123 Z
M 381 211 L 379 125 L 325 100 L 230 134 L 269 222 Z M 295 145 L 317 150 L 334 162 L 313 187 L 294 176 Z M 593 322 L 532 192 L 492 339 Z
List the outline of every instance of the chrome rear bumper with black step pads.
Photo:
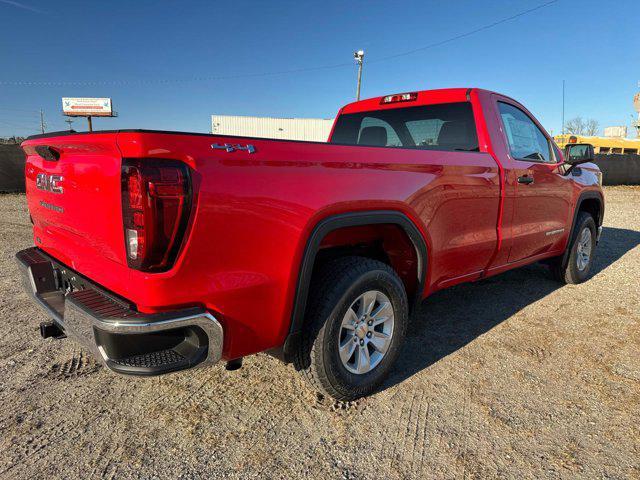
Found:
M 201 308 L 142 314 L 38 248 L 18 252 L 16 260 L 27 292 L 111 370 L 159 375 L 222 357 L 222 326 Z

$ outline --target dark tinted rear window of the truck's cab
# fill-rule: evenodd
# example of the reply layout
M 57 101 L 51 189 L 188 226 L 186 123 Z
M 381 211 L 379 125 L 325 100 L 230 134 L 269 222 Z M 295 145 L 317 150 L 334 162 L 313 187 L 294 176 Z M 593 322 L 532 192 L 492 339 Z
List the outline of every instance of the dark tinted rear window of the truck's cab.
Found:
M 470 102 L 340 115 L 331 143 L 421 150 L 479 151 Z

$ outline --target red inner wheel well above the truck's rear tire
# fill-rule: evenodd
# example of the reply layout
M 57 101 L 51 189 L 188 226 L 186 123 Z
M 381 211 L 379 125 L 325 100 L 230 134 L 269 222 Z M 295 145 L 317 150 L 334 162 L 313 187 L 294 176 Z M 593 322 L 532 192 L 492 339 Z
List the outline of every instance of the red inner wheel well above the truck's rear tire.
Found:
M 353 255 L 379 260 L 393 268 L 404 284 L 407 298 L 418 293 L 418 254 L 400 225 L 357 225 L 332 230 L 320 242 L 313 271 L 335 258 Z

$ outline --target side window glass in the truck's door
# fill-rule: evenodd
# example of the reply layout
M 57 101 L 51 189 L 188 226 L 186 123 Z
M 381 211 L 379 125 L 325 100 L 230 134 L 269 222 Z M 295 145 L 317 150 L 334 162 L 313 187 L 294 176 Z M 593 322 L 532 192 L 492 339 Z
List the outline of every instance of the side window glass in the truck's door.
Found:
M 534 162 L 555 162 L 549 140 L 526 113 L 504 102 L 498 102 L 498 108 L 513 158 Z

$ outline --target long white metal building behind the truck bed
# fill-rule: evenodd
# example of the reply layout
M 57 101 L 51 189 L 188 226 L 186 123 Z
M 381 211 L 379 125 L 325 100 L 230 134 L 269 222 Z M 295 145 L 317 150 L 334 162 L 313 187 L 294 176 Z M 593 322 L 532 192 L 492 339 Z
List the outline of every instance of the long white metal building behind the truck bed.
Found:
M 326 142 L 333 119 L 211 115 L 211 133 L 242 137 Z

